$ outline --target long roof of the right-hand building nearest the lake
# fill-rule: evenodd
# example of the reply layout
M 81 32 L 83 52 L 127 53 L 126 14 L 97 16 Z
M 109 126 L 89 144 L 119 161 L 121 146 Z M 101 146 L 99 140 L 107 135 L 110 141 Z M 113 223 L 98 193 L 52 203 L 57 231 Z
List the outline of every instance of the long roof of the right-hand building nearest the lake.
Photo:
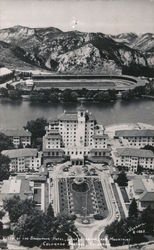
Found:
M 115 132 L 117 137 L 151 137 L 154 136 L 154 130 L 150 129 L 132 129 L 132 130 L 117 130 Z

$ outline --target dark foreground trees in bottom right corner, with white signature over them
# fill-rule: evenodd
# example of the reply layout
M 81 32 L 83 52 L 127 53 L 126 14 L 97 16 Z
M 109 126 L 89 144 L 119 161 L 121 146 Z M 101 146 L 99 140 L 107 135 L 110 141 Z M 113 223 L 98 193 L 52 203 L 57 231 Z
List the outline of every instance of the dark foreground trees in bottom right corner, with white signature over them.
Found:
M 106 227 L 106 233 L 112 246 L 146 241 L 145 235 L 154 235 L 154 210 L 149 206 L 139 213 L 136 201 L 133 199 L 128 218 L 119 222 L 114 221 Z

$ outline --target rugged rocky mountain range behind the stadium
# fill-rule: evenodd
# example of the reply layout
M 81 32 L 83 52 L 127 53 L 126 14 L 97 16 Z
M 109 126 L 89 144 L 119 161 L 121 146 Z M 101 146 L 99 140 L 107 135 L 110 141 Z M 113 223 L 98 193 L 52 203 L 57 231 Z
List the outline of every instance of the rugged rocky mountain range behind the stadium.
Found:
M 133 70 L 134 74 L 138 74 L 144 69 L 148 72 L 154 65 L 152 34 L 142 37 L 134 33 L 111 36 L 103 33 L 63 32 L 54 27 L 14 26 L 0 30 L 0 41 L 8 45 L 10 65 L 14 65 L 14 68 L 18 67 L 18 59 L 20 63 L 23 61 L 23 68 L 28 63 L 50 71 L 72 73 L 118 74 L 122 70 L 123 73 L 131 74 Z M 3 56 L 3 64 L 6 59 Z

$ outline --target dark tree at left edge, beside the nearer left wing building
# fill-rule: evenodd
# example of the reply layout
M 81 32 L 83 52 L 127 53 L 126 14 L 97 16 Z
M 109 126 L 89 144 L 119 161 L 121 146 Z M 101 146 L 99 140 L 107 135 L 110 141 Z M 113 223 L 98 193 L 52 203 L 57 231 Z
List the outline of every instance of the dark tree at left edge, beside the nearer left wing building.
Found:
M 8 180 L 10 176 L 9 163 L 10 159 L 5 155 L 0 154 L 0 181 Z

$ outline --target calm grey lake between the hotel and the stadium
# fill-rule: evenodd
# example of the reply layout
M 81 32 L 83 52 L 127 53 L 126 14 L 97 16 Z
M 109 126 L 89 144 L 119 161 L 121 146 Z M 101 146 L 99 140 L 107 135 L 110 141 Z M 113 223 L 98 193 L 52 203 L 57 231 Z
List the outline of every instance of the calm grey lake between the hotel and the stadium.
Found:
M 80 104 L 31 104 L 0 99 L 0 128 L 21 128 L 28 120 L 38 117 L 52 118 L 63 110 L 73 111 Z M 154 125 L 154 101 L 135 100 L 123 103 L 118 100 L 109 104 L 84 104 L 98 122 L 103 125 L 115 123 L 149 123 Z

